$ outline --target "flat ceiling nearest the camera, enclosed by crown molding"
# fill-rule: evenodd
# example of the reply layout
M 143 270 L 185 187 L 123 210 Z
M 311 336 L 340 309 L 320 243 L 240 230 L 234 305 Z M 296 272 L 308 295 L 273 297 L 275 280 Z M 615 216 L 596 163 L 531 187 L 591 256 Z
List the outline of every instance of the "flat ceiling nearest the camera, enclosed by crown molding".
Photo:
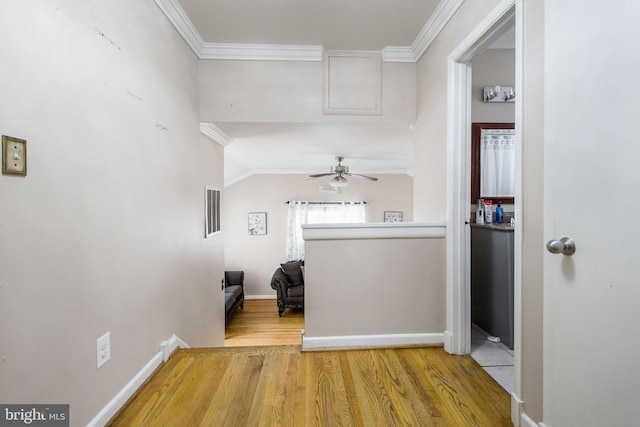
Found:
M 209 43 L 410 46 L 440 0 L 180 0 Z

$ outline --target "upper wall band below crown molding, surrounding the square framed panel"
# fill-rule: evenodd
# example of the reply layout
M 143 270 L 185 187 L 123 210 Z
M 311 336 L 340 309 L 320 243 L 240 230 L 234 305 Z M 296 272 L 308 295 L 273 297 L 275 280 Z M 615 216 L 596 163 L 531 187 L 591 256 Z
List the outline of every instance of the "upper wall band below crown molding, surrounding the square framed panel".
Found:
M 382 64 L 382 114 L 324 115 L 322 62 L 200 61 L 200 117 L 211 122 L 415 120 L 415 65 Z

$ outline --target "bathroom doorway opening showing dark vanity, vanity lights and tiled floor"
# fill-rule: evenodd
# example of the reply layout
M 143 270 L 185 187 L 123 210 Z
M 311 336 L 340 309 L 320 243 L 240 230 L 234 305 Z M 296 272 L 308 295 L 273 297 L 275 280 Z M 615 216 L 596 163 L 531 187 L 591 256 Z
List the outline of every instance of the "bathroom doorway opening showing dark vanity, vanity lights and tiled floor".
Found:
M 470 354 L 509 393 L 513 392 L 514 384 L 514 228 L 509 219 L 514 218 L 515 210 L 515 141 L 509 132 L 513 132 L 515 103 L 486 102 L 483 94 L 487 87 L 496 90 L 515 86 L 515 64 L 514 25 L 470 63 L 473 122 Z M 492 194 L 508 194 L 511 198 L 486 196 Z M 502 224 L 497 224 L 497 217 L 493 217 L 491 225 L 486 223 L 482 208 L 478 210 L 479 198 L 493 200 L 493 207 L 485 209 L 494 213 L 498 211 L 498 202 L 502 202 Z M 478 220 L 478 216 L 483 218 Z

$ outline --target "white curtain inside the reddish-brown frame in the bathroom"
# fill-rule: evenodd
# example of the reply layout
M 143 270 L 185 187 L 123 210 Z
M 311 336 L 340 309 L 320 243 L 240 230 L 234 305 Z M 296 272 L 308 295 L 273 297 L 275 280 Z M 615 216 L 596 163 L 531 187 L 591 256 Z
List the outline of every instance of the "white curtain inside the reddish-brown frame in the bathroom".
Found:
M 515 131 L 483 129 L 480 134 L 480 196 L 513 197 L 516 177 Z

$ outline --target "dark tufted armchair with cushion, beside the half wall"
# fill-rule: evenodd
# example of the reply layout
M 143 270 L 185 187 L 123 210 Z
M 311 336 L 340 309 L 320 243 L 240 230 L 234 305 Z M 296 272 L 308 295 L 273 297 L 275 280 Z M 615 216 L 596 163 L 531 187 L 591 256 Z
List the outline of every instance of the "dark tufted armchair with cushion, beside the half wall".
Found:
M 271 278 L 271 287 L 276 290 L 278 315 L 287 308 L 304 308 L 304 261 L 280 264 Z

